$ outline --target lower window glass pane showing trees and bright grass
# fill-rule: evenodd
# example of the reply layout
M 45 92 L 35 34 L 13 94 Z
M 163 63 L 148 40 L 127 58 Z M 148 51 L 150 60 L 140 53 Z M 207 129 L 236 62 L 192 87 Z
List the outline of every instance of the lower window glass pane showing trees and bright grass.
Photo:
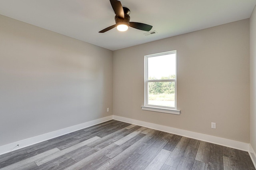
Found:
M 175 82 L 148 82 L 148 105 L 175 107 Z

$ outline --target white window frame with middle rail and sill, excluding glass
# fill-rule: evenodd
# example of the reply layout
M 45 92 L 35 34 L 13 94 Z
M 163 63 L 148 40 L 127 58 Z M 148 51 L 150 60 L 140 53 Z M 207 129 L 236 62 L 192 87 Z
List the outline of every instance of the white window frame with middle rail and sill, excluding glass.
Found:
M 162 112 L 162 113 L 171 113 L 180 115 L 180 110 L 177 110 L 177 60 L 176 61 L 176 70 L 175 70 L 175 79 L 156 79 L 156 80 L 148 80 L 148 58 L 150 57 L 158 57 L 162 55 L 169 55 L 169 54 L 176 54 L 175 57 L 177 59 L 177 51 L 167 51 L 163 53 L 156 53 L 151 55 L 145 55 L 145 81 L 144 81 L 144 106 L 142 107 L 142 110 L 147 111 L 156 111 L 156 112 Z M 148 105 L 148 83 L 149 82 L 174 82 L 175 83 L 175 107 L 166 107 L 166 106 L 159 106 L 159 105 Z

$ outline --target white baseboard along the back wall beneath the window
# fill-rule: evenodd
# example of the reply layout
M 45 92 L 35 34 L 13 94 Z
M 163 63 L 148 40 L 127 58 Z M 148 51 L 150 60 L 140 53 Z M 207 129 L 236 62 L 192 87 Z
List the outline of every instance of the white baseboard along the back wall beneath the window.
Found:
M 193 139 L 198 139 L 198 140 L 202 140 L 202 141 L 205 141 L 205 142 L 219 144 L 219 145 L 227 146 L 227 147 L 234 148 L 234 149 L 244 150 L 244 151 L 247 151 L 247 152 L 249 151 L 249 144 L 244 143 L 244 142 L 238 142 L 238 141 L 235 141 L 235 140 L 220 138 L 220 137 L 211 136 L 211 135 L 208 135 L 208 134 L 191 132 L 191 131 L 188 131 L 188 130 L 182 130 L 182 129 L 178 129 L 178 128 L 172 128 L 172 127 L 167 127 L 167 126 L 163 126 L 163 125 L 157 125 L 157 124 L 154 124 L 154 123 L 138 121 L 138 120 L 135 120 L 135 119 L 129 119 L 129 118 L 126 118 L 126 117 L 120 117 L 120 116 L 115 116 L 115 115 L 113 115 L 113 119 L 117 120 L 117 121 L 131 123 L 131 124 L 134 124 L 134 125 L 139 125 L 139 126 L 142 126 L 142 127 L 148 127 L 148 128 L 160 130 L 160 131 L 163 131 L 163 132 L 178 134 L 180 136 L 185 136 L 185 137 L 188 137 L 188 138 L 193 138 Z

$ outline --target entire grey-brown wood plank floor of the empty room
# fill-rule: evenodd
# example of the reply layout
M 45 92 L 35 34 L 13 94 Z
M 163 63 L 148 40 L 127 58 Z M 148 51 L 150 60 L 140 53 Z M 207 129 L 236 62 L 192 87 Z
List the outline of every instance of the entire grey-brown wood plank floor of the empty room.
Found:
M 255 170 L 248 152 L 108 121 L 0 155 L 0 170 Z

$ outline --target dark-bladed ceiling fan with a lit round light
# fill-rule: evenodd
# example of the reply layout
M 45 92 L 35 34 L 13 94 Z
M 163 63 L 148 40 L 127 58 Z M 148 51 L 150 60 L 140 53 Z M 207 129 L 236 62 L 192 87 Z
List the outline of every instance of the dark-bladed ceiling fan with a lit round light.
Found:
M 143 24 L 140 22 L 130 22 L 130 10 L 126 7 L 123 7 L 121 2 L 118 0 L 110 0 L 110 4 L 116 14 L 115 16 L 115 21 L 116 24 L 112 25 L 108 28 L 105 28 L 104 30 L 101 30 L 99 33 L 104 33 L 112 28 L 117 28 L 119 31 L 126 31 L 128 30 L 128 27 L 136 28 L 138 30 L 143 30 L 143 31 L 150 31 L 152 26 L 148 24 Z

